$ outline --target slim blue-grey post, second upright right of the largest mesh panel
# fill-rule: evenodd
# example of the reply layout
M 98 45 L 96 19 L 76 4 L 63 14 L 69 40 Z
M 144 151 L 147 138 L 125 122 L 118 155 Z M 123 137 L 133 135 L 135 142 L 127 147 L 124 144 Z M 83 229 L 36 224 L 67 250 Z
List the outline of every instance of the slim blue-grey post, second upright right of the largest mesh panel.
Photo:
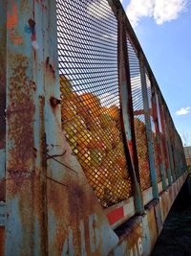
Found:
M 149 153 L 149 166 L 150 166 L 150 172 L 151 172 L 153 196 L 154 198 L 159 199 L 158 180 L 157 180 L 157 173 L 155 169 L 152 128 L 151 128 L 151 120 L 150 120 L 151 111 L 149 109 L 145 69 L 144 69 L 144 62 L 142 57 L 139 58 L 139 68 L 140 68 L 140 79 L 141 79 L 145 127 L 146 127 L 146 136 L 147 136 L 147 147 L 148 147 L 148 153 Z

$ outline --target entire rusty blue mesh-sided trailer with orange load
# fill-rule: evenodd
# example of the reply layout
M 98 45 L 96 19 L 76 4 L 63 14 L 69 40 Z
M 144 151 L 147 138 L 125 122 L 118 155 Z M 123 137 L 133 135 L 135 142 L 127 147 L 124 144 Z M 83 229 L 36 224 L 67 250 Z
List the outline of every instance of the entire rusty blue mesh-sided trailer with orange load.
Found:
M 149 255 L 186 164 L 120 2 L 0 13 L 0 255 Z

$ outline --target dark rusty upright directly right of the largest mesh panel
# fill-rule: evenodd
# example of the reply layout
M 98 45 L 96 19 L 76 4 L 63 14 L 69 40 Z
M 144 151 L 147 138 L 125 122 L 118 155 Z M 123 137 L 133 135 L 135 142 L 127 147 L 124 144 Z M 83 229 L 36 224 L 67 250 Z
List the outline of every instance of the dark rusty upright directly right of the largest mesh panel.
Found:
M 138 154 L 136 148 L 136 137 L 134 128 L 134 115 L 132 104 L 130 68 L 127 50 L 127 36 L 123 12 L 118 12 L 118 74 L 120 86 L 120 102 L 122 109 L 122 128 L 125 140 L 127 160 L 131 159 L 129 163 L 134 197 L 136 202 L 136 209 L 138 214 L 144 213 L 143 202 L 141 198 L 139 173 L 138 173 Z

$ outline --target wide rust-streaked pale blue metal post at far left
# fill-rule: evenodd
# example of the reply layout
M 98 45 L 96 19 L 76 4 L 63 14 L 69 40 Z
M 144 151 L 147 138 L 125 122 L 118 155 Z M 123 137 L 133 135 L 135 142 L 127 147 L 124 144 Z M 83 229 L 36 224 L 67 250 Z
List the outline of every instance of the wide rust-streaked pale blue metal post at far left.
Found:
M 48 255 L 45 117 L 46 105 L 50 105 L 47 85 L 55 85 L 51 61 L 56 23 L 50 22 L 55 1 L 6 2 L 5 255 Z M 50 42 L 47 38 L 52 37 Z

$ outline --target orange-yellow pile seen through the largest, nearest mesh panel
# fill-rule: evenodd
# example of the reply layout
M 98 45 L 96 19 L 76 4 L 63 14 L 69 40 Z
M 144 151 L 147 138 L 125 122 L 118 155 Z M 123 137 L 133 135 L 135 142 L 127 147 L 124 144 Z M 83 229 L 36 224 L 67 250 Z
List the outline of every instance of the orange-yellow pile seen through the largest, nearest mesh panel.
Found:
M 77 94 L 60 77 L 62 128 L 103 206 L 131 196 L 117 105 L 105 107 L 93 93 Z

